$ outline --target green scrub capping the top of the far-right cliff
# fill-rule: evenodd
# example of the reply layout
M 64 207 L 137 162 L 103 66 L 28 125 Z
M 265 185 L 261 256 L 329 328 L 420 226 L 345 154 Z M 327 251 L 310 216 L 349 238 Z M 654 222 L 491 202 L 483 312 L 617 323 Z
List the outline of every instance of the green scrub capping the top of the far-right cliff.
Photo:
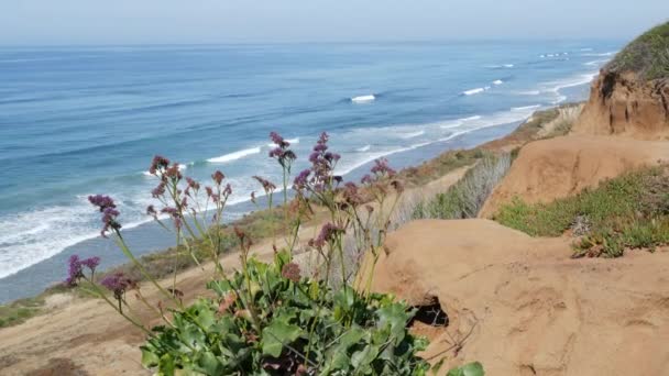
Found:
M 641 34 L 606 66 L 613 73 L 636 73 L 644 80 L 669 77 L 669 22 Z

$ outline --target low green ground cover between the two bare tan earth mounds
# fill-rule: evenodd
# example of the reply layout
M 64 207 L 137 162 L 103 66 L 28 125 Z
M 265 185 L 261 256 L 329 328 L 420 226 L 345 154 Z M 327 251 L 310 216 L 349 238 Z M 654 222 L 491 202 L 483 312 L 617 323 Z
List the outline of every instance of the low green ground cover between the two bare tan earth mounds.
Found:
M 574 257 L 652 251 L 669 244 L 669 166 L 632 172 L 550 203 L 530 204 L 516 197 L 494 219 L 533 236 L 571 232 L 580 237 Z

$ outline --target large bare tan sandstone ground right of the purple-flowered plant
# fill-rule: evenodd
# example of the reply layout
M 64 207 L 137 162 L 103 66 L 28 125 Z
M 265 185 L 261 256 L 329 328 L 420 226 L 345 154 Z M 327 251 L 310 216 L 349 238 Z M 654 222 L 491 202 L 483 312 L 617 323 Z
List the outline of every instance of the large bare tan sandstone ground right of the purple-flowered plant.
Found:
M 448 365 L 480 361 L 490 375 L 662 375 L 667 251 L 570 259 L 567 239 L 487 220 L 416 221 L 388 236 L 374 288 L 416 305 L 439 299 L 450 335 L 432 335 L 426 356 Z

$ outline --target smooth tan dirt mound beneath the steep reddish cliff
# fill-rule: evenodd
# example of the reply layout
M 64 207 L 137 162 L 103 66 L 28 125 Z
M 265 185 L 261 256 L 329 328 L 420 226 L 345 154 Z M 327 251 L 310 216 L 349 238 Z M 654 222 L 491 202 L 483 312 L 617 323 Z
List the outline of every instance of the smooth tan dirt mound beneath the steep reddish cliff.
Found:
M 660 161 L 669 161 L 669 142 L 594 135 L 535 141 L 520 150 L 479 217 L 492 217 L 515 196 L 530 203 L 549 202 Z

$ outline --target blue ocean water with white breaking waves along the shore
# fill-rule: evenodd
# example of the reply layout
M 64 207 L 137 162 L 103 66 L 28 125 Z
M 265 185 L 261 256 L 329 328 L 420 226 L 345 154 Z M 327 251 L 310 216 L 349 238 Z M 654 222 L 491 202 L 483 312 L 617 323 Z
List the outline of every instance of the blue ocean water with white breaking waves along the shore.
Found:
M 99 217 L 88 195 L 111 195 L 124 228 L 145 229 L 135 234 L 143 252 L 165 246 L 143 224 L 154 154 L 198 179 L 223 170 L 241 215 L 259 190 L 251 175 L 278 181 L 271 131 L 293 142 L 303 165 L 321 131 L 342 155 L 341 173 L 381 156 L 409 165 L 585 98 L 621 45 L 0 48 L 0 301 L 61 279 L 73 252 L 112 252 L 94 240 Z

